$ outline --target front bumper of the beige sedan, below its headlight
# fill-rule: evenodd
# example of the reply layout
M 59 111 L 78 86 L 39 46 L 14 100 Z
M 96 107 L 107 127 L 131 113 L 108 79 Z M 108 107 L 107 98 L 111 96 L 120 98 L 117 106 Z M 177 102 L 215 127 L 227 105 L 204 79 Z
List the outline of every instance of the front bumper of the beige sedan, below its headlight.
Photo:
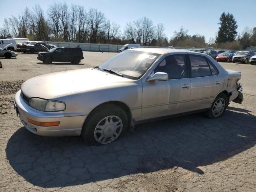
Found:
M 86 119 L 86 115 L 68 116 L 64 112 L 42 112 L 30 107 L 18 91 L 14 99 L 14 107 L 24 127 L 34 134 L 41 136 L 79 136 Z M 28 122 L 30 118 L 38 122 L 56 122 L 58 126 L 37 126 Z

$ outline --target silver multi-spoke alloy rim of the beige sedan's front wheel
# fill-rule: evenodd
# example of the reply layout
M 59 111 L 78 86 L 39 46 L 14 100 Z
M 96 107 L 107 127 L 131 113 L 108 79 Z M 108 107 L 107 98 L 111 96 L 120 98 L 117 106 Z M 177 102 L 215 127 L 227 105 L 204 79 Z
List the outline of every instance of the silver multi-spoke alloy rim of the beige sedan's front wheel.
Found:
M 118 116 L 107 116 L 100 120 L 96 125 L 94 138 L 101 144 L 108 144 L 120 136 L 122 129 L 123 123 Z

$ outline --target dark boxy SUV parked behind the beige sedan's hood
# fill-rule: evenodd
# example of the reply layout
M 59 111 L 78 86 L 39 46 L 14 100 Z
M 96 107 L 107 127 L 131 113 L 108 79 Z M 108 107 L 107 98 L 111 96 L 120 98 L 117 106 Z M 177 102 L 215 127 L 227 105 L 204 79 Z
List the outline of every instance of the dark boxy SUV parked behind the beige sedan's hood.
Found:
M 56 61 L 78 64 L 84 57 L 81 48 L 57 47 L 50 49 L 48 52 L 39 52 L 37 59 L 44 63 L 52 63 L 53 61 Z

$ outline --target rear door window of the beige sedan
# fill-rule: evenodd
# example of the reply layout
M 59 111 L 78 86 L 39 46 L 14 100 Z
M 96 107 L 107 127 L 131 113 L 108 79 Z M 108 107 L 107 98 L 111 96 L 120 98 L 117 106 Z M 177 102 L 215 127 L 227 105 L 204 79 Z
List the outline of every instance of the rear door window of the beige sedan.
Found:
M 192 77 L 204 77 L 211 76 L 212 72 L 208 63 L 206 62 L 206 57 L 189 55 L 191 64 L 191 76 Z

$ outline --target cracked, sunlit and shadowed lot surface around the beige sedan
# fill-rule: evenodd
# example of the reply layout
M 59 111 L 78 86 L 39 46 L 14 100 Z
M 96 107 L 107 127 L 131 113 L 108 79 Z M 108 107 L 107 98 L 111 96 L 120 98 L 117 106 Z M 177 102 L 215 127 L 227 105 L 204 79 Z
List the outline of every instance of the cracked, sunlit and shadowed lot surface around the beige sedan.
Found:
M 142 124 L 106 146 L 80 137 L 27 131 L 12 106 L 28 78 L 100 65 L 116 53 L 84 52 L 85 60 L 42 64 L 36 54 L 2 58 L 0 191 L 256 191 L 256 66 L 221 63 L 242 72 L 243 104 L 221 118 L 193 114 Z

